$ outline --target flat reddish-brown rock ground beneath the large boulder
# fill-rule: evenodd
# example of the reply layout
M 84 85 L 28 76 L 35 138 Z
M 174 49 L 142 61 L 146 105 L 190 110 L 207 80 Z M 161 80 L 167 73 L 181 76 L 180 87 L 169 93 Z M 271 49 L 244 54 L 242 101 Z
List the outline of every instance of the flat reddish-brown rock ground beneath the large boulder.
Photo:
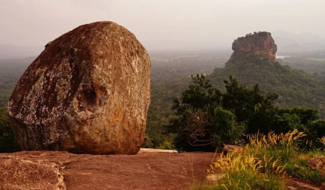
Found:
M 62 151 L 0 154 L 4 190 L 171 190 L 205 180 L 213 153 L 75 155 Z

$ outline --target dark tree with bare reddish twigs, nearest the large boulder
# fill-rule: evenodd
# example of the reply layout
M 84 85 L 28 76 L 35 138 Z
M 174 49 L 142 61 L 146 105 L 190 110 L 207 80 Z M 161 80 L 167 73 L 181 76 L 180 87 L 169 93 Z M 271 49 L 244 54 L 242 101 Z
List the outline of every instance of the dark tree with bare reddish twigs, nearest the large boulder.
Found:
M 169 128 L 176 133 L 175 146 L 186 151 L 214 151 L 224 143 L 234 143 L 243 134 L 231 111 L 221 106 L 221 92 L 212 88 L 204 75 L 191 76 L 193 85 L 181 98 L 174 98 L 172 110 L 177 119 Z

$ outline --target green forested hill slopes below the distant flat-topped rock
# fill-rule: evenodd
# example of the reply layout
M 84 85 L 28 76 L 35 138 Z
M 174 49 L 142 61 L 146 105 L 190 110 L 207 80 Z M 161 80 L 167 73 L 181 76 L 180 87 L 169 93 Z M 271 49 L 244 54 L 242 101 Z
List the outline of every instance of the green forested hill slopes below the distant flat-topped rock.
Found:
M 265 44 L 264 41 L 251 43 Z M 246 44 L 246 47 L 252 45 Z M 235 49 L 234 54 L 238 51 Z M 277 104 L 281 107 L 297 105 L 315 107 L 319 108 L 322 117 L 325 117 L 325 81 L 272 61 L 268 56 L 267 47 L 264 54 L 248 51 L 236 55 L 238 56 L 232 57 L 225 68 L 216 68 L 209 75 L 209 79 L 215 85 L 223 88 L 223 80 L 232 75 L 248 86 L 259 84 L 263 90 L 276 92 L 279 94 Z

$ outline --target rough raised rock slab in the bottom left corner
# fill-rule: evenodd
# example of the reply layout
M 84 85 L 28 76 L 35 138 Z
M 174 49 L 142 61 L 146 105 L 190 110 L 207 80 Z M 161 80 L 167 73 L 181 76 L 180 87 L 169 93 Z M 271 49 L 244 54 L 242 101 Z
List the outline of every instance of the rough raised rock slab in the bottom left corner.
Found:
M 61 168 L 55 163 L 0 156 L 0 189 L 66 190 Z

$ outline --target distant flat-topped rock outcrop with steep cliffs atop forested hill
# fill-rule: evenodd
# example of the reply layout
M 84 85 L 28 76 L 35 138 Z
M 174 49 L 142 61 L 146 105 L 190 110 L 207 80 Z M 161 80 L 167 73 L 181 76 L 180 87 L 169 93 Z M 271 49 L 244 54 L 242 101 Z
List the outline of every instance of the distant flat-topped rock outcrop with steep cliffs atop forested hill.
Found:
M 234 52 L 226 63 L 226 66 L 245 53 L 265 55 L 268 56 L 271 61 L 275 61 L 275 54 L 277 51 L 277 46 L 270 32 L 254 32 L 254 34 L 247 34 L 245 37 L 239 37 L 234 41 L 232 48 Z

